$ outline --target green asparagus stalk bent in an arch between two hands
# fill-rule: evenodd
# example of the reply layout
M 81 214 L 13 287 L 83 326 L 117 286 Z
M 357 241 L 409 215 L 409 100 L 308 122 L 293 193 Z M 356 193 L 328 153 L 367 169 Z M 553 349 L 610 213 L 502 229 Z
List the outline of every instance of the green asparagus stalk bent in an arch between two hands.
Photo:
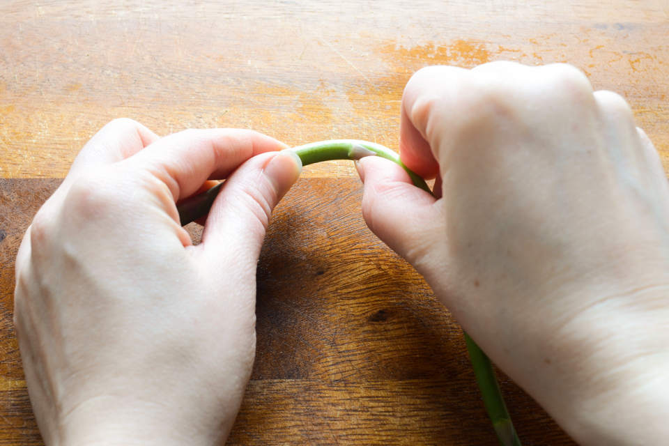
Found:
M 423 178 L 420 178 L 420 176 L 414 174 L 413 171 L 410 171 L 410 169 L 401 162 L 397 153 L 380 144 L 375 144 L 369 141 L 358 141 L 355 139 L 334 139 L 332 141 L 305 144 L 304 146 L 293 147 L 286 150 L 297 153 L 300 160 L 302 160 L 303 166 L 321 161 L 360 160 L 360 158 L 366 156 L 380 156 L 399 164 L 399 166 L 406 171 L 408 176 L 410 176 L 416 187 L 420 187 L 420 189 L 425 192 L 432 194 L 432 191 Z M 207 215 L 222 186 L 223 183 L 215 185 L 206 192 L 203 192 L 196 197 L 192 197 L 180 204 L 177 209 L 181 224 L 188 224 Z M 518 439 L 514 425 L 511 422 L 511 417 L 509 417 L 509 412 L 505 406 L 504 399 L 502 399 L 502 394 L 500 392 L 497 378 L 495 377 L 492 363 L 488 356 L 486 356 L 481 348 L 479 348 L 479 346 L 477 346 L 466 333 L 465 341 L 474 369 L 474 375 L 476 376 L 486 410 L 488 410 L 488 415 L 493 423 L 493 428 L 500 440 L 500 444 L 502 446 L 521 446 L 521 442 Z

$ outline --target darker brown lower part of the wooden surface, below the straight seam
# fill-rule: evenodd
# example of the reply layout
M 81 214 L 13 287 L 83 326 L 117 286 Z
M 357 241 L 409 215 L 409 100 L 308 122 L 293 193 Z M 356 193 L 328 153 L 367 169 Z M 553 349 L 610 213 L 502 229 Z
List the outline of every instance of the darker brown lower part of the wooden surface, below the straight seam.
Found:
M 12 325 L 22 234 L 60 180 L 0 180 L 0 445 L 40 445 Z M 353 178 L 299 180 L 258 264 L 257 353 L 230 445 L 495 445 L 462 331 L 367 229 Z M 200 226 L 190 224 L 194 243 Z M 498 372 L 500 373 L 500 372 Z M 573 445 L 500 373 L 525 445 Z

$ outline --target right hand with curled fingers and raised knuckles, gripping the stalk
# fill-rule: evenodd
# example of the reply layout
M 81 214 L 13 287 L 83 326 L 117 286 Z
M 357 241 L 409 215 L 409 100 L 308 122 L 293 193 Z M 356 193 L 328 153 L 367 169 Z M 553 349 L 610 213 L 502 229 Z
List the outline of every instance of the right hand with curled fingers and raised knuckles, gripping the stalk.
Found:
M 431 67 L 400 155 L 359 162 L 369 227 L 585 445 L 669 438 L 669 186 L 620 96 L 566 65 Z

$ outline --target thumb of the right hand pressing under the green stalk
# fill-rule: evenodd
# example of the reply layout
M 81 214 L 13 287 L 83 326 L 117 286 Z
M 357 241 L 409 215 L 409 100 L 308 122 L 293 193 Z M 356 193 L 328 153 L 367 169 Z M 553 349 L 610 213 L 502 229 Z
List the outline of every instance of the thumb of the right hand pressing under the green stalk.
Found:
M 406 171 L 394 162 L 364 157 L 358 164 L 364 183 L 364 221 L 394 252 L 420 268 L 421 259 L 431 248 L 431 236 L 441 232 L 440 212 L 436 212 L 440 205 L 415 187 Z

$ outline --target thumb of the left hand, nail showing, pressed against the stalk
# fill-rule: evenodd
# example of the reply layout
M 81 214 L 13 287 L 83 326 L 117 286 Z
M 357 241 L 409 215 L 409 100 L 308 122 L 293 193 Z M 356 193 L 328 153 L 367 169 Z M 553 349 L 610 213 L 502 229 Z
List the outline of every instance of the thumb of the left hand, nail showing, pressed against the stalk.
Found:
M 235 259 L 240 268 L 256 268 L 272 210 L 301 171 L 293 151 L 256 156 L 235 171 L 209 211 L 198 246 L 204 261 Z

